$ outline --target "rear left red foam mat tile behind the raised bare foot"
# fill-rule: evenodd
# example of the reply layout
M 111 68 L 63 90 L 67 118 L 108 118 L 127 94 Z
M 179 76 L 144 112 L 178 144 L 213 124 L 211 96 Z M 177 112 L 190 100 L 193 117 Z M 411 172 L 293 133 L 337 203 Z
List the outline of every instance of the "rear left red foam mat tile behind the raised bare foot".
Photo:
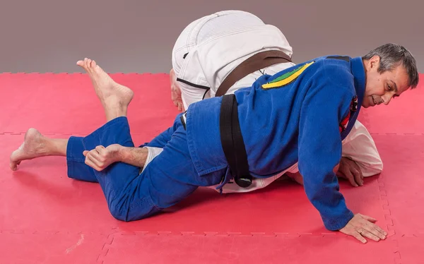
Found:
M 172 125 L 177 109 L 170 100 L 168 75 L 111 76 L 136 93 L 128 109 L 133 133 L 152 138 Z M 3 73 L 0 82 L 0 132 L 25 132 L 28 126 L 34 126 L 42 133 L 90 133 L 105 122 L 86 74 Z M 25 121 L 16 120 L 17 116 Z

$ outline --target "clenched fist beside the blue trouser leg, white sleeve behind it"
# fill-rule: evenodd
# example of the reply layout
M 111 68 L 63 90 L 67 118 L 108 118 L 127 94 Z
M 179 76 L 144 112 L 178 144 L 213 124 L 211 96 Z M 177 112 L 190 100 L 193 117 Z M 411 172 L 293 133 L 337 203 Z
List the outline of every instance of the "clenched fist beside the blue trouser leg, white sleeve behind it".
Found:
M 86 157 L 86 164 L 100 172 L 110 164 L 119 161 L 121 148 L 122 146 L 118 144 L 110 145 L 107 148 L 98 145 L 94 150 L 84 150 L 83 155 Z

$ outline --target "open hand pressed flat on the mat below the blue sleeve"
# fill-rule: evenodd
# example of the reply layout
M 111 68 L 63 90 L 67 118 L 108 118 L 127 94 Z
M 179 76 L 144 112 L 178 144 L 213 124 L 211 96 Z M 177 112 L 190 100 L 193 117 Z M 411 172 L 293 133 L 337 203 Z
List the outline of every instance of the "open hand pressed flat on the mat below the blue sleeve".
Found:
M 372 217 L 356 214 L 351 221 L 339 231 L 343 234 L 354 236 L 355 239 L 363 243 L 367 243 L 365 237 L 374 241 L 386 239 L 387 232 L 377 226 L 377 224 L 374 224 L 374 222 L 377 222 L 377 220 Z

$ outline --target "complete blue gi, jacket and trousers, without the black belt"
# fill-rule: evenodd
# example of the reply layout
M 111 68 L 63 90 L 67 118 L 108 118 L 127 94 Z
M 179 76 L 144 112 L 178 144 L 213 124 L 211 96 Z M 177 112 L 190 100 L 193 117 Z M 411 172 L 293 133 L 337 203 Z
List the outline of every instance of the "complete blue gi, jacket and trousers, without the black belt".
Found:
M 299 162 L 307 198 L 329 230 L 353 217 L 333 172 L 341 159 L 341 140 L 358 117 L 365 92 L 360 57 L 323 56 L 264 75 L 235 92 L 249 172 L 266 178 Z M 134 147 L 126 117 L 107 122 L 85 138 L 71 137 L 68 175 L 99 182 L 110 212 L 118 220 L 140 220 L 175 205 L 198 186 L 226 184 L 232 178 L 220 143 L 220 102 L 213 97 L 191 104 L 173 126 L 149 145 L 163 148 L 140 174 L 117 162 L 102 172 L 85 163 L 83 150 L 98 145 Z M 218 186 L 218 188 L 220 188 Z

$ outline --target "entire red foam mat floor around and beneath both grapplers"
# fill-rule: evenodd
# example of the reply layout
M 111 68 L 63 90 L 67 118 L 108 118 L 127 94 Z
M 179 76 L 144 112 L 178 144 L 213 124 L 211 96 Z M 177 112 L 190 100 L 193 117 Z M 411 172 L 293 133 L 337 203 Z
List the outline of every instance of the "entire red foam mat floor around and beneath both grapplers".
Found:
M 170 102 L 167 75 L 112 77 L 136 92 L 129 109 L 136 145 L 172 124 L 177 111 Z M 361 116 L 364 123 L 371 123 L 384 172 L 366 179 L 365 186 L 359 188 L 341 182 L 348 206 L 354 212 L 377 218 L 389 231 L 386 241 L 363 245 L 324 229 L 301 186 L 288 181 L 276 181 L 254 193 L 223 196 L 199 188 L 160 215 L 129 223 L 114 220 L 98 184 L 67 178 L 64 157 L 26 161 L 14 173 L 8 169 L 8 156 L 20 145 L 29 127 L 55 138 L 68 138 L 90 133 L 104 122 L 88 77 L 0 74 L 0 92 L 0 263 L 424 260 L 420 251 L 424 237 L 420 224 L 424 214 L 420 191 L 424 187 L 423 131 L 418 123 L 409 122 L 409 126 L 404 119 L 393 118 L 392 112 L 378 118 L 372 114 L 371 110 L 386 107 L 367 110 Z M 416 97 L 402 95 L 396 98 L 396 107 L 406 109 L 410 113 L 407 119 L 415 121 L 424 114 L 419 107 L 412 112 L 411 105 L 417 102 Z M 410 132 L 413 135 L 406 135 Z

